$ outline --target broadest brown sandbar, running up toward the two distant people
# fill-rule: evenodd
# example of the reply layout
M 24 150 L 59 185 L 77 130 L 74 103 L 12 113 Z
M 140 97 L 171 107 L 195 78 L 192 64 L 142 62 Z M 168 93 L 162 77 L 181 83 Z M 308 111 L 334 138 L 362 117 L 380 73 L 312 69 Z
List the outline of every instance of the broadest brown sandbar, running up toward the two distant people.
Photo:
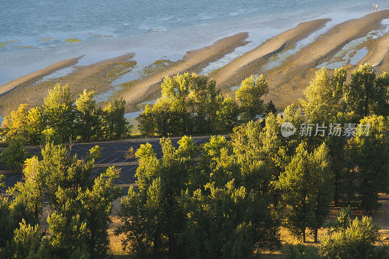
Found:
M 389 10 L 382 10 L 337 24 L 288 58 L 281 66 L 266 71 L 264 75 L 270 92 L 265 101 L 273 100 L 279 108 L 298 101 L 314 77 L 316 66 L 331 58 L 350 41 L 366 36 L 374 28 L 380 27 L 381 20 L 388 16 Z M 250 64 L 239 73 L 241 77 L 247 76 L 258 73 L 258 69 Z

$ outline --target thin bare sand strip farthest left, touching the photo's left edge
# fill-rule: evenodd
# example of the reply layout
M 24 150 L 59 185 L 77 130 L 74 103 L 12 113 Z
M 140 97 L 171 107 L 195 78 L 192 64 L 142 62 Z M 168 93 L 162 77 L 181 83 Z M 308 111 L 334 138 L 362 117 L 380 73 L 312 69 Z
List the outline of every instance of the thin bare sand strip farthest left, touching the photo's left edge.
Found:
M 0 86 L 0 95 L 4 94 L 12 89 L 14 89 L 16 86 L 19 86 L 20 84 L 26 83 L 28 81 L 33 82 L 36 81 L 44 76 L 50 75 L 55 71 L 58 71 L 60 69 L 64 69 L 70 66 L 73 66 L 77 64 L 78 60 L 82 58 L 84 55 L 81 55 L 79 57 L 62 60 L 57 63 L 54 63 L 44 69 L 37 70 L 35 72 L 32 72 L 28 75 L 19 77 L 18 79 L 12 80 L 2 86 Z

